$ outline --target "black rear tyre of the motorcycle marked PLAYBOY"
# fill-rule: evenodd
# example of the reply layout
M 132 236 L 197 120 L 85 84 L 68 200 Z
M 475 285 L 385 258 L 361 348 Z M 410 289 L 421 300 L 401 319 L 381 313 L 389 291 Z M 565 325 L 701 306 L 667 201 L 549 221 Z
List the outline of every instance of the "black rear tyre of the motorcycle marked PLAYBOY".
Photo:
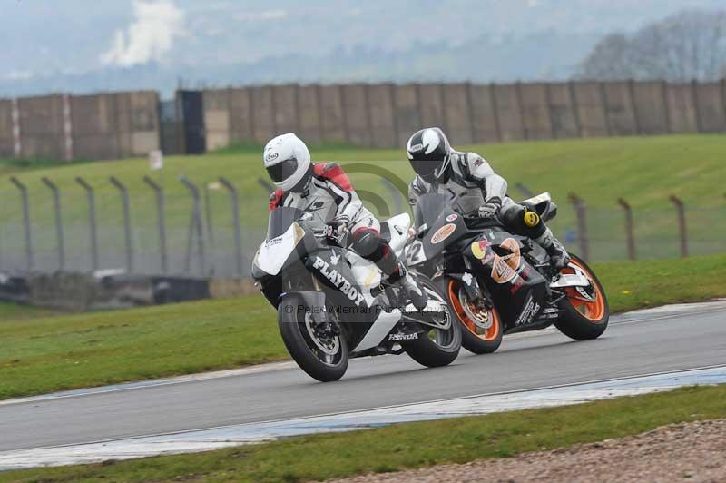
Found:
M 451 323 L 447 330 L 438 330 L 422 324 L 421 327 L 431 330 L 420 335 L 417 340 L 401 342 L 401 347 L 406 350 L 406 353 L 411 359 L 416 360 L 422 366 L 429 368 L 447 366 L 456 360 L 456 357 L 459 355 L 459 350 L 461 350 L 461 328 L 456 323 L 456 317 L 446 302 L 446 297 L 437 289 L 436 283 L 421 274 L 415 274 L 414 276 L 421 286 L 427 289 L 429 297 L 432 296 L 433 292 L 440 301 L 444 302 Z M 442 340 L 441 343 L 437 340 L 429 339 L 429 334 L 432 331 L 436 331 L 435 337 L 437 340 Z

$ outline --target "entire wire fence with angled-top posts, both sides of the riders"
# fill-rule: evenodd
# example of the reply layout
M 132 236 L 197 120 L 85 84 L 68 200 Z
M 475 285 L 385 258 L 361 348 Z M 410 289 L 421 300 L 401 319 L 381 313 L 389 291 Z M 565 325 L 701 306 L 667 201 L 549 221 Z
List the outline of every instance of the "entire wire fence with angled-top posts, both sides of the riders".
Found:
M 43 178 L 32 189 L 15 177 L 10 182 L 12 191 L 0 193 L 2 271 L 244 278 L 264 238 L 264 216 L 253 220 L 245 206 L 250 197 L 266 198 L 270 186 L 262 180 L 259 193 L 240 193 L 223 177 L 194 183 L 181 176 L 174 190 L 149 176 L 133 190 L 113 176 L 103 186 L 83 178 L 72 185 Z M 359 194 L 386 218 L 408 209 L 394 184 L 383 180 Z M 515 187 L 528 194 L 525 186 Z M 675 197 L 655 208 L 633 209 L 625 200 L 591 207 L 573 193 L 549 224 L 569 250 L 588 261 L 726 251 L 726 206 L 696 207 Z

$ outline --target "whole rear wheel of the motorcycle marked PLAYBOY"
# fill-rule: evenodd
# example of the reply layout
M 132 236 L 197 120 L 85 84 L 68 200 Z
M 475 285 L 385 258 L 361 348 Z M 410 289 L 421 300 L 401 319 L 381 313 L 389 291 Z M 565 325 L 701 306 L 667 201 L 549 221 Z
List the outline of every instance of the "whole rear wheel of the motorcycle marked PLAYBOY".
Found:
M 446 303 L 446 297 L 437 289 L 437 285 L 428 277 L 416 274 L 419 286 L 427 291 L 428 300 L 439 302 L 442 311 L 426 315 L 430 320 L 436 321 L 441 327 L 434 328 L 421 325 L 425 331 L 417 340 L 401 342 L 401 347 L 411 359 L 422 366 L 429 368 L 447 366 L 456 360 L 461 350 L 461 329 L 454 320 L 451 309 Z

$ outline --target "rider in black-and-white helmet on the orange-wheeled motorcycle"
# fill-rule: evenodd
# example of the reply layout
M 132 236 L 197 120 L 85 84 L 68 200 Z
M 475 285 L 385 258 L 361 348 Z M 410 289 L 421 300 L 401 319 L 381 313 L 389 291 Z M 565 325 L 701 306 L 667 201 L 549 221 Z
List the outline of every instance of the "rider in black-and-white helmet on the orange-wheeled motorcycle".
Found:
M 476 153 L 460 153 L 437 127 L 422 129 L 408 140 L 408 161 L 417 177 L 408 185 L 408 201 L 416 204 L 418 195 L 427 192 L 457 196 L 465 216 L 499 219 L 505 229 L 537 242 L 550 256 L 552 266 L 560 270 L 570 256 L 539 215 L 514 202 L 506 195 L 504 178 L 492 170 Z

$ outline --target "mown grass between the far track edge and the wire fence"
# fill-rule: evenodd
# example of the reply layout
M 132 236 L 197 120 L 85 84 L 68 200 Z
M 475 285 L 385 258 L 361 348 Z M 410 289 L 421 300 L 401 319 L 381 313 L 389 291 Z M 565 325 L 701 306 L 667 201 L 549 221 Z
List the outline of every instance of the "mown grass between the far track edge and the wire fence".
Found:
M 726 255 L 595 271 L 613 311 L 726 296 Z M 261 296 L 55 317 L 2 307 L 0 399 L 288 358 Z

